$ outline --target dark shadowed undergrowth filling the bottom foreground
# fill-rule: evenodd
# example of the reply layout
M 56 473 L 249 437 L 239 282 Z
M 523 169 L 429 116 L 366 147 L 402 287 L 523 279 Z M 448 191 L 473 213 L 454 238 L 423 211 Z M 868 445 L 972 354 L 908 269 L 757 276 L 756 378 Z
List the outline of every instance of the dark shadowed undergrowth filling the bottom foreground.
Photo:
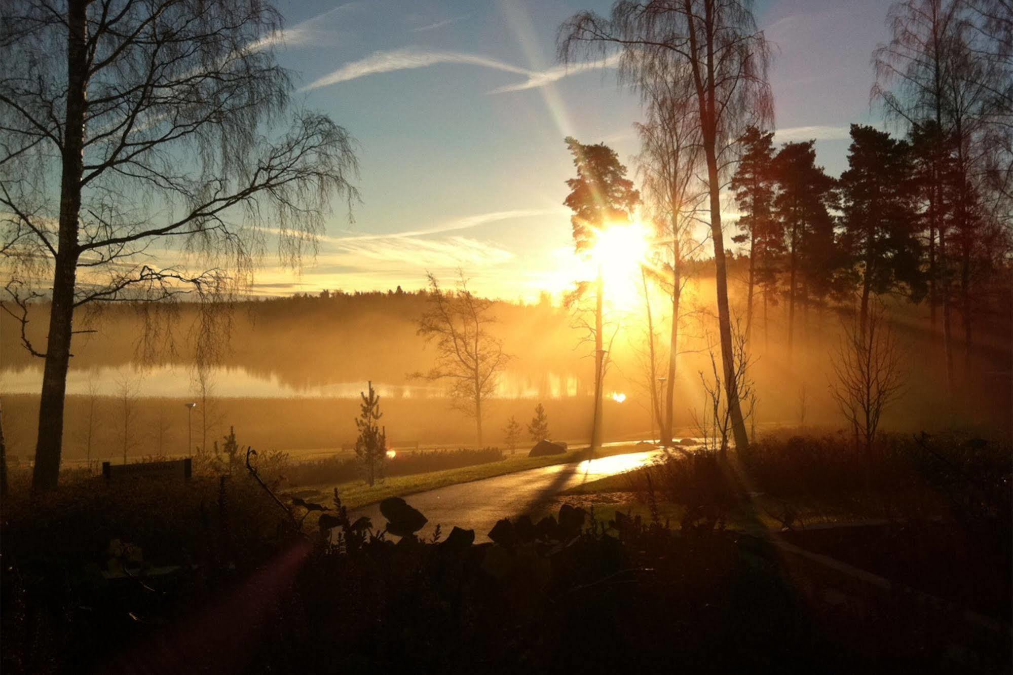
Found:
M 959 617 L 902 599 L 860 615 L 828 605 L 764 540 L 728 532 L 619 515 L 603 528 L 563 507 L 537 523 L 500 521 L 492 543 L 459 529 L 394 543 L 381 523 L 349 522 L 336 499 L 320 519 L 329 529 L 303 534 L 248 478 L 88 488 L 3 505 L 4 672 L 1008 665 L 1008 641 L 964 640 Z M 416 529 L 419 517 L 394 506 L 381 507 L 391 529 Z M 142 562 L 128 544 L 143 547 Z

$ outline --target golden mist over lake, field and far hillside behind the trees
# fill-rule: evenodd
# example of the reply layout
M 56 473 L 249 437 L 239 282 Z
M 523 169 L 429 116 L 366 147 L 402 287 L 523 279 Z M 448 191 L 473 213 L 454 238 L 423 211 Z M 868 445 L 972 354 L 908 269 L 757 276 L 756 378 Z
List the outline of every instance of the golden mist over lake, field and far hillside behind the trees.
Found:
M 705 418 L 701 373 L 712 381 L 711 352 L 716 324 L 712 278 L 704 272 L 687 294 L 692 309 L 684 318 L 676 385 L 675 421 L 684 435 Z M 742 288 L 732 287 L 742 310 Z M 241 442 L 294 456 L 349 447 L 360 392 L 371 381 L 383 400 L 384 424 L 392 447 L 457 447 L 475 444 L 474 422 L 451 406 L 445 385 L 412 374 L 432 367 L 435 350 L 417 334 L 427 306 L 425 293 L 330 293 L 289 299 L 260 299 L 220 307 L 216 355 L 207 369 L 206 389 L 196 368 L 192 338 L 200 314 L 189 303 L 152 316 L 121 306 L 86 319 L 75 343 L 68 378 L 66 458 L 84 458 L 89 419 L 95 458 L 119 456 L 129 409 L 129 454 L 135 457 L 184 455 L 187 434 L 194 445 L 220 441 L 230 427 Z M 664 301 L 651 298 L 654 320 L 671 321 Z M 588 442 L 592 425 L 594 361 L 574 323 L 572 308 L 545 296 L 541 304 L 497 302 L 491 330 L 511 356 L 498 376 L 484 414 L 485 445 L 502 445 L 501 429 L 511 416 L 522 424 L 543 403 L 554 438 Z M 40 308 L 42 309 L 42 307 Z M 795 354 L 783 347 L 783 303 L 768 308 L 769 326 L 756 327 L 755 363 L 750 375 L 762 392 L 755 424 L 844 429 L 832 399 L 832 363 L 848 315 L 809 312 Z M 904 300 L 889 304 L 904 356 L 905 387 L 884 415 L 888 430 L 932 430 L 945 426 L 997 427 L 1009 432 L 1010 347 L 996 316 L 983 330 L 961 385 L 957 405 L 935 386 L 941 354 L 928 334 L 925 317 Z M 605 378 L 606 440 L 657 436 L 649 415 L 650 392 L 642 298 L 614 309 L 612 363 Z M 45 334 L 45 316 L 32 320 L 29 335 Z M 37 415 L 41 360 L 20 348 L 9 316 L 0 317 L 0 391 L 9 452 L 30 457 Z M 655 326 L 658 330 L 661 326 Z M 145 341 L 147 334 L 149 340 Z M 766 334 L 766 340 L 764 335 Z M 708 347 L 709 346 L 709 347 Z M 661 373 L 658 368 L 657 373 Z M 125 392 L 127 400 L 125 401 Z M 615 395 L 613 395 L 615 394 Z M 621 400 L 621 402 L 620 402 Z M 185 402 L 199 402 L 187 421 Z

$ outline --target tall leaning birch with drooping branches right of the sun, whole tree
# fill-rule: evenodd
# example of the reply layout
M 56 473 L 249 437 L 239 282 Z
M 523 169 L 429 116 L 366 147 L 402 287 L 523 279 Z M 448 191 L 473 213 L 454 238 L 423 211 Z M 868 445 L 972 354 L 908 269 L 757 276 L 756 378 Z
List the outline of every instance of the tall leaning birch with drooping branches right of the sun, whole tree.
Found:
M 749 0 L 620 0 L 606 18 L 580 12 L 559 28 L 558 53 L 569 62 L 618 52 L 621 82 L 640 89 L 660 77 L 692 83 L 693 119 L 700 130 L 710 197 L 721 361 L 735 445 L 749 445 L 735 386 L 728 280 L 721 226 L 721 191 L 750 125 L 773 117 L 767 83 L 769 47 Z

